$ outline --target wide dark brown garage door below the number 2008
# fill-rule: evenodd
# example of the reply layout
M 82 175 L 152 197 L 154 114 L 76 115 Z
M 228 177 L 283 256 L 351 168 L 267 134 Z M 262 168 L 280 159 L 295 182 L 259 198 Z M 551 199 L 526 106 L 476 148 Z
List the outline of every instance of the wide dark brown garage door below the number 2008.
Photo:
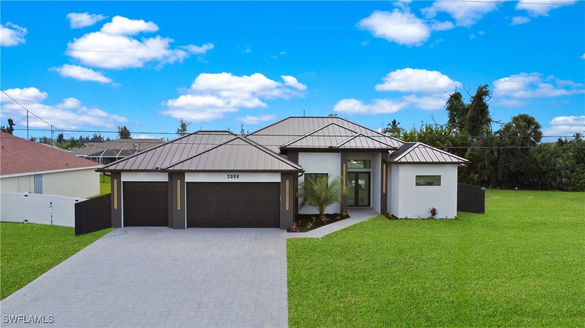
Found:
M 280 183 L 188 182 L 190 228 L 279 228 Z

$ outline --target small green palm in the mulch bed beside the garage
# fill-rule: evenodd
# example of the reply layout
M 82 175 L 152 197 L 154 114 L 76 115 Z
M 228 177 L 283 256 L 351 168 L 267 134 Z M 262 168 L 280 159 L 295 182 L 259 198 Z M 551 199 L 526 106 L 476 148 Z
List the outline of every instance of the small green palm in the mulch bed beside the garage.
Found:
M 302 198 L 300 207 L 312 206 L 319 212 L 319 217 L 325 217 L 325 208 L 329 205 L 340 203 L 346 190 L 339 177 L 328 179 L 326 175 L 321 177 L 307 177 L 304 182 L 298 184 L 297 197 Z

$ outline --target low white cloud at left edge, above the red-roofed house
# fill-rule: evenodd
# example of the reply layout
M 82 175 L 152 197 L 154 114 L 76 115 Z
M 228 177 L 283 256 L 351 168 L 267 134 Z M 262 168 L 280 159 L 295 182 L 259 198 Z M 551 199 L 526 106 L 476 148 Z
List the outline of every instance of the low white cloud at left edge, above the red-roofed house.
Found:
M 40 92 L 37 88 L 8 89 L 6 93 L 15 99 L 22 100 L 19 102 L 25 104 L 26 109 L 60 129 L 86 126 L 114 128 L 118 124 L 128 123 L 125 117 L 82 106 L 81 102 L 75 98 L 63 99 L 62 103 L 54 106 L 43 104 L 41 102 L 48 95 L 46 92 Z M 17 123 L 26 122 L 25 109 L 12 102 L 8 97 L 2 97 L 1 101 L 2 117 L 12 117 Z M 29 116 L 29 127 L 47 128 L 47 123 L 31 115 Z

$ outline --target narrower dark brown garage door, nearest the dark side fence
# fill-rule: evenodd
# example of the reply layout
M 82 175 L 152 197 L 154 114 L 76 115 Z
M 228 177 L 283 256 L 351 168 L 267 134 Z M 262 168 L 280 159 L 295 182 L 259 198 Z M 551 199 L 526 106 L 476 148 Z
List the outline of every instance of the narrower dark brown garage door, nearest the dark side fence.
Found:
M 168 226 L 168 182 L 125 182 L 124 226 Z

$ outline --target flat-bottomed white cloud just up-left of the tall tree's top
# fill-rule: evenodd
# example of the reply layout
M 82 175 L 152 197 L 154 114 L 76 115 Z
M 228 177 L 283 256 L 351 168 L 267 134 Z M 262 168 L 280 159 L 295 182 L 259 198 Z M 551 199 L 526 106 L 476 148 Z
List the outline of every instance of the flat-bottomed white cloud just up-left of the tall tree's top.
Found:
M 439 71 L 418 68 L 397 69 L 382 79 L 384 83 L 376 85 L 378 91 L 441 93 L 461 85 Z

